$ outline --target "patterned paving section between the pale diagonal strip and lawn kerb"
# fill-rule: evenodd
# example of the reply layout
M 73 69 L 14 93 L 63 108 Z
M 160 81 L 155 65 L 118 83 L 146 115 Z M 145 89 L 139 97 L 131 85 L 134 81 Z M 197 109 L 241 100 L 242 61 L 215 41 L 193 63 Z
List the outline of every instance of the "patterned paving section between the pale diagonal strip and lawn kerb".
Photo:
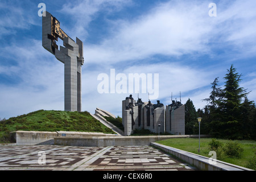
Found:
M 187 167 L 187 168 L 186 168 Z M 88 168 L 94 170 L 193 170 L 150 146 L 112 147 Z

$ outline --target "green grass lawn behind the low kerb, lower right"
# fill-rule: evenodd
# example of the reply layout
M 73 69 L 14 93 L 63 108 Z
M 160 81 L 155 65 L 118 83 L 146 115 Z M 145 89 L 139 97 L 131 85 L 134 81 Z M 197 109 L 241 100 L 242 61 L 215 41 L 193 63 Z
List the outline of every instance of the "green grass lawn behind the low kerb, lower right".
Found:
M 225 139 L 217 139 L 218 141 L 226 144 L 230 142 L 230 140 Z M 198 138 L 173 138 L 173 139 L 166 139 L 160 140 L 157 143 L 164 144 L 166 146 L 179 148 L 180 150 L 192 152 L 194 154 L 199 154 L 203 156 L 210 157 L 209 152 L 211 151 L 209 148 L 208 143 L 212 141 L 212 138 L 200 138 L 200 152 L 199 149 L 199 139 Z M 227 163 L 232 163 L 242 167 L 248 167 L 249 160 L 256 155 L 256 141 L 254 140 L 236 140 L 238 143 L 241 144 L 243 148 L 243 152 L 241 158 L 231 158 L 224 154 L 221 155 L 221 159 Z

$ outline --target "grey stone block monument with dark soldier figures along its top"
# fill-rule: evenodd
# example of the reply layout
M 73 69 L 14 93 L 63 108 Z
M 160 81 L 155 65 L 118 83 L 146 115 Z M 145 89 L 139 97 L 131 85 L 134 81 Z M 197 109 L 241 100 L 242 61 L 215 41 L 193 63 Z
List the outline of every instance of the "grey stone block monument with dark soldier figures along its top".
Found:
M 150 130 L 152 133 L 185 134 L 185 105 L 179 101 L 164 106 L 160 101 L 137 101 L 130 95 L 122 101 L 122 123 L 125 135 L 131 135 L 135 129 Z

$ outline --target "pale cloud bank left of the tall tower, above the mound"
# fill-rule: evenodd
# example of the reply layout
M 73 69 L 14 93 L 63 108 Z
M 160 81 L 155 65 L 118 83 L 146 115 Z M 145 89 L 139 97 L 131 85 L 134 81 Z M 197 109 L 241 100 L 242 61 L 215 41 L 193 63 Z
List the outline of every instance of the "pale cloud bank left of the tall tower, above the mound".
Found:
M 10 47 L 1 48 L 1 52 L 12 56 L 17 65 L 0 65 L 0 72 L 19 80 L 15 85 L 1 85 L 0 117 L 39 109 L 64 110 L 64 64 L 44 50 L 40 40 Z

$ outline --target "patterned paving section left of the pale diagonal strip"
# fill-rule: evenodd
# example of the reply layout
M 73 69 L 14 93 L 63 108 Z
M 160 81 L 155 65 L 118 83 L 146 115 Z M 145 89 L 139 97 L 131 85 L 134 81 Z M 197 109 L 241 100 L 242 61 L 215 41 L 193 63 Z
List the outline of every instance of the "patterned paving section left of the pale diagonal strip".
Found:
M 10 146 L 0 147 L 0 169 L 6 168 L 66 168 L 91 156 L 102 148 L 63 146 Z M 39 151 L 44 151 L 46 164 L 40 164 Z

